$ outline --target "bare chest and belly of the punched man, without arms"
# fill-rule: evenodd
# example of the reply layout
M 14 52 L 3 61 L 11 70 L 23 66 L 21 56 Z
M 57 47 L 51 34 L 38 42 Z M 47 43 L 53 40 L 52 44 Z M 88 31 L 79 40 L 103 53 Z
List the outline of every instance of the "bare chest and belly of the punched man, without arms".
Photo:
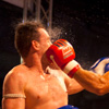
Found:
M 57 109 L 68 105 L 63 77 L 58 70 L 49 69 L 49 73 L 43 76 L 37 72 L 29 72 L 25 87 L 26 109 Z

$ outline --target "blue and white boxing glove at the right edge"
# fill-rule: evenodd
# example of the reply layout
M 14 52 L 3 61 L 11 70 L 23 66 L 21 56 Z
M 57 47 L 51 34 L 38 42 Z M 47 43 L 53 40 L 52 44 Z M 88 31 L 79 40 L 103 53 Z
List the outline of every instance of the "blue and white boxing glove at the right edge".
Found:
M 109 71 L 109 58 L 105 57 L 105 58 L 100 58 L 98 59 L 94 65 L 90 66 L 90 69 L 93 72 L 104 75 L 106 72 Z

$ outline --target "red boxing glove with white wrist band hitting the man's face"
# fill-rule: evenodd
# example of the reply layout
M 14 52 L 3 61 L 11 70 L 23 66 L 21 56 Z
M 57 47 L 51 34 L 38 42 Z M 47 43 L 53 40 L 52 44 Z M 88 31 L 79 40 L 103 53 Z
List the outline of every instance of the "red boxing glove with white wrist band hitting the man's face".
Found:
M 78 63 L 73 60 L 75 51 L 65 39 L 55 41 L 46 51 L 46 56 L 50 62 L 57 63 L 71 77 L 80 68 Z

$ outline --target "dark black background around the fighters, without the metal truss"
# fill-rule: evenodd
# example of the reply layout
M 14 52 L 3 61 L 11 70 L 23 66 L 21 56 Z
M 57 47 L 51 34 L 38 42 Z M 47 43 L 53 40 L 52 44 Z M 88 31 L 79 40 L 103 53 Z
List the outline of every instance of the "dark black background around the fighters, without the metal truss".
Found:
M 109 0 L 53 0 L 52 29 L 73 45 L 75 59 L 84 69 L 109 56 L 108 10 Z M 14 26 L 22 17 L 22 9 L 0 1 L 0 99 L 4 75 L 20 63 Z M 80 109 L 109 109 L 109 94 L 96 96 L 83 90 L 69 96 L 69 104 Z

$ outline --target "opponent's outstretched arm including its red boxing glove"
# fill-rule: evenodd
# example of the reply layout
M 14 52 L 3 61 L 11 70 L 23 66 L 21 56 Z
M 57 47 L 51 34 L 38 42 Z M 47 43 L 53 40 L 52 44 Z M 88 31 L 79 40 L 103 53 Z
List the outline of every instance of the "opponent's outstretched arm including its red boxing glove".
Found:
M 109 92 L 109 73 L 101 76 L 92 71 L 83 70 L 73 60 L 75 58 L 74 49 L 66 40 L 57 40 L 47 50 L 47 58 L 58 64 L 70 77 L 74 77 L 85 89 L 97 95 L 104 95 Z

